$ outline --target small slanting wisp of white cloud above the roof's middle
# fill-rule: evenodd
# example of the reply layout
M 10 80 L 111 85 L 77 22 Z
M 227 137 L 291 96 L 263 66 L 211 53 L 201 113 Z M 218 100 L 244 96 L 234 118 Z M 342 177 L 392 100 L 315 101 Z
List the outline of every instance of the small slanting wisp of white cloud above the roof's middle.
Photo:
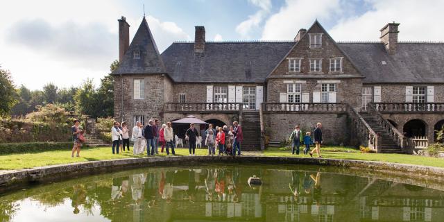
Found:
M 250 3 L 259 7 L 260 9 L 254 15 L 249 15 L 248 19 L 241 22 L 236 26 L 236 32 L 241 35 L 242 38 L 249 38 L 250 33 L 259 28 L 259 25 L 270 13 L 271 1 L 270 0 L 249 0 Z

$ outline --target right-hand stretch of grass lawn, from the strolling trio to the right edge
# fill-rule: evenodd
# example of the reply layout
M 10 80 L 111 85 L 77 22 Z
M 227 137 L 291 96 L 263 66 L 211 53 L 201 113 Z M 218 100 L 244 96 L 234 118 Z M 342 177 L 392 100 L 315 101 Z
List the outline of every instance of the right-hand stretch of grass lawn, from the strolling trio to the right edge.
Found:
M 313 147 L 311 147 L 311 150 Z M 292 155 L 289 148 L 268 148 L 264 151 L 266 156 L 284 157 L 310 157 L 301 151 L 299 155 Z M 344 160 L 368 160 L 379 162 L 394 162 L 401 164 L 415 164 L 430 167 L 444 167 L 444 159 L 435 157 L 425 157 L 418 155 L 395 154 L 395 153 L 361 153 L 355 148 L 346 147 L 321 147 L 323 158 L 344 159 Z M 313 157 L 317 157 L 313 154 Z

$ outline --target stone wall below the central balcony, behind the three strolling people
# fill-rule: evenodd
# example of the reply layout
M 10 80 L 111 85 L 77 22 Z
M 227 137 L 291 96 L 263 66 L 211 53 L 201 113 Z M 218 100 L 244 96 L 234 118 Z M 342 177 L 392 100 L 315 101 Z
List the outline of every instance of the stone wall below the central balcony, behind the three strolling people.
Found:
M 313 130 L 316 123 L 323 123 L 323 144 L 346 144 L 349 137 L 347 114 L 275 113 L 264 114 L 265 134 L 271 141 L 288 140 L 291 131 L 299 124 L 303 131 Z

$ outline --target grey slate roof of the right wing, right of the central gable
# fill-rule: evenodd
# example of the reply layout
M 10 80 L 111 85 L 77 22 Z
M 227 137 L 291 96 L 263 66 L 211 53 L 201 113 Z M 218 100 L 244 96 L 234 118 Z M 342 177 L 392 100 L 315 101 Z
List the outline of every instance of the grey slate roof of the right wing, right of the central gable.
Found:
M 400 42 L 394 55 L 379 42 L 338 45 L 366 76 L 364 83 L 444 83 L 444 43 Z

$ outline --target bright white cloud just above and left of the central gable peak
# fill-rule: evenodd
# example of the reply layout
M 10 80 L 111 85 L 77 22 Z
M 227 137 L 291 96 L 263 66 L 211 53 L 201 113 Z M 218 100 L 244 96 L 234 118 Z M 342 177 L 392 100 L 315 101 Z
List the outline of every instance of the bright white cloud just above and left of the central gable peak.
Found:
M 329 19 L 341 12 L 339 0 L 287 0 L 279 12 L 269 17 L 262 31 L 262 40 L 291 40 L 300 28 L 314 20 Z

